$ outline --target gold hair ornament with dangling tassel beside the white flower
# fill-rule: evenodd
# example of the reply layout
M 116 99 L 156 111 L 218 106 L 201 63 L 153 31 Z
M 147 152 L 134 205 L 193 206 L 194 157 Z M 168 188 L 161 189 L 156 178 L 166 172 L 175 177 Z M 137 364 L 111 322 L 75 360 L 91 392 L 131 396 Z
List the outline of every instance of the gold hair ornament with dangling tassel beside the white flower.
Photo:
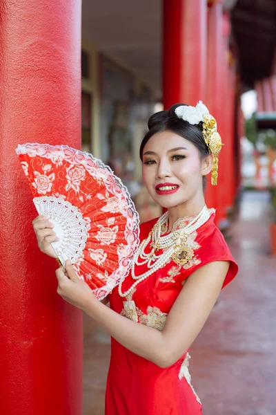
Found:
M 217 122 L 213 116 L 210 114 L 204 114 L 202 116 L 203 121 L 203 131 L 202 134 L 204 136 L 204 140 L 206 145 L 210 151 L 210 154 L 214 156 L 214 163 L 211 172 L 211 183 L 212 185 L 217 185 L 217 170 L 218 170 L 218 163 L 219 163 L 219 151 L 221 151 L 221 147 L 223 146 L 221 142 L 221 136 L 217 132 Z

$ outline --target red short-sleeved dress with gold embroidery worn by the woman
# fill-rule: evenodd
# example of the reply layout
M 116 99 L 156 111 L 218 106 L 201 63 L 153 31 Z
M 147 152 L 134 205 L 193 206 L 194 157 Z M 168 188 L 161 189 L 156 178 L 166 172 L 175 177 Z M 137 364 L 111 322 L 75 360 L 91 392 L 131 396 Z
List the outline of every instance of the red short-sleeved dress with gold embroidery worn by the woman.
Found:
M 237 264 L 219 229 L 214 216 L 190 235 L 188 246 L 194 257 L 181 268 L 170 262 L 157 270 L 128 297 L 119 296 L 115 288 L 110 295 L 110 308 L 126 317 L 162 330 L 184 280 L 197 268 L 212 261 L 230 261 L 223 287 L 237 274 Z M 157 219 L 143 223 L 140 239 L 146 239 Z M 145 264 L 146 266 L 146 264 Z M 140 273 L 146 271 L 139 266 Z M 123 293 L 134 283 L 128 275 L 122 284 Z M 162 369 L 137 356 L 115 339 L 111 340 L 111 358 L 106 385 L 106 415 L 197 415 L 201 403 L 190 384 L 188 351 L 174 365 Z

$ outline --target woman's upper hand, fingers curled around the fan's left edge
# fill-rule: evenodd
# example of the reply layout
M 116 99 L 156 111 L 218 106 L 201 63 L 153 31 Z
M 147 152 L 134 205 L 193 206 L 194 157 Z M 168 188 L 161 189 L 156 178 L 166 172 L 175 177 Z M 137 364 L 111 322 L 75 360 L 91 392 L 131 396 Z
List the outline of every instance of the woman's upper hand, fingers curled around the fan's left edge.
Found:
M 50 223 L 47 216 L 37 216 L 33 221 L 32 225 L 34 227 L 34 233 L 37 237 L 37 243 L 39 249 L 44 254 L 49 255 L 50 257 L 57 258 L 55 250 L 51 246 L 51 242 L 58 241 L 57 235 L 52 230 L 54 225 Z

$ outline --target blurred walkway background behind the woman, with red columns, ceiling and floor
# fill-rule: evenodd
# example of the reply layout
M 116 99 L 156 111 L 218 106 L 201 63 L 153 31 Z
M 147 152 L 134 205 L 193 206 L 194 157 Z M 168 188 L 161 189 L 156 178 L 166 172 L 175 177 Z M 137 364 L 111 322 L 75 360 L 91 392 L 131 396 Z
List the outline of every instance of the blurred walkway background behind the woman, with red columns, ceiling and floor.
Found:
M 139 160 L 153 112 L 202 100 L 225 143 L 206 201 L 240 272 L 191 348 L 206 415 L 276 414 L 275 44 L 275 0 L 83 0 L 82 147 L 121 177 L 141 221 L 161 213 Z M 83 324 L 83 413 L 103 414 L 110 340 Z

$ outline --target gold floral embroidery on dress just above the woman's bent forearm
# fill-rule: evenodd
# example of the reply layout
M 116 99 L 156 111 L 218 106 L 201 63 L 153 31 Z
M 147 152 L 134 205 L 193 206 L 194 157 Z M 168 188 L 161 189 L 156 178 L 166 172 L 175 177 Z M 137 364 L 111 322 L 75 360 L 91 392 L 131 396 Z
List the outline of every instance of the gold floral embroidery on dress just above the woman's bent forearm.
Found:
M 121 311 L 121 315 L 129 318 L 133 322 L 139 322 L 145 326 L 152 327 L 162 331 L 166 323 L 166 313 L 162 313 L 157 307 L 148 306 L 146 314 L 135 305 L 132 300 L 132 295 L 135 293 L 135 289 L 127 295 L 126 301 L 123 302 L 124 308 Z

